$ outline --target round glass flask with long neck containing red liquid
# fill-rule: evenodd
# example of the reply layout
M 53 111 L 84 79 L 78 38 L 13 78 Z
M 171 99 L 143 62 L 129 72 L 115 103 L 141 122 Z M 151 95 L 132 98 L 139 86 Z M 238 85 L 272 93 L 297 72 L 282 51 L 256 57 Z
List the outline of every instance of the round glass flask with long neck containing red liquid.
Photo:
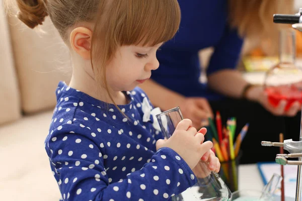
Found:
M 264 82 L 269 103 L 277 107 L 286 100 L 285 111 L 296 101 L 302 104 L 302 69 L 295 64 L 295 48 L 295 32 L 281 30 L 279 63 L 266 72 Z

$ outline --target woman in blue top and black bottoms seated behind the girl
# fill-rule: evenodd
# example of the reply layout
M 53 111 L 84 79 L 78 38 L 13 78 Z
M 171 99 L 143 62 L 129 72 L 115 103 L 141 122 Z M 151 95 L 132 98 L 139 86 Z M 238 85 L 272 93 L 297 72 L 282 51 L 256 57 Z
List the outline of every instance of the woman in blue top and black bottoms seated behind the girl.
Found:
M 141 87 L 152 103 L 163 110 L 180 106 L 184 117 L 191 119 L 195 127 L 213 117 L 217 110 L 224 123 L 229 117 L 237 117 L 237 134 L 249 122 L 241 161 L 273 160 L 276 149 L 262 148 L 260 142 L 278 141 L 280 132 L 285 138 L 298 137 L 299 118 L 277 116 L 295 116 L 300 105 L 293 104 L 288 112 L 284 112 L 284 103 L 271 107 L 262 87 L 248 84 L 235 68 L 243 45 L 242 36 L 268 37 L 273 41 L 278 31 L 272 15 L 286 12 L 276 8 L 286 10 L 292 2 L 278 1 L 279 5 L 261 0 L 178 2 L 182 12 L 180 29 L 158 51 L 160 68 Z M 290 9 L 288 13 L 292 13 Z M 203 84 L 199 81 L 198 51 L 207 47 L 214 47 L 214 52 L 207 67 L 208 82 Z M 285 126 L 287 122 L 293 126 Z

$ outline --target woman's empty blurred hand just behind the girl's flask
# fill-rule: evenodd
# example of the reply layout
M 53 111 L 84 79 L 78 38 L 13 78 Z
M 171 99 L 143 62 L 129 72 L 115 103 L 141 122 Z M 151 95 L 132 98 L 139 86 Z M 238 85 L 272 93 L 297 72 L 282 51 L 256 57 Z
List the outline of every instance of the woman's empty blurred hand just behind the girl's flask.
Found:
M 213 118 L 212 109 L 203 97 L 186 97 L 179 104 L 184 118 L 190 119 L 193 127 L 199 129 L 208 125 L 208 118 Z

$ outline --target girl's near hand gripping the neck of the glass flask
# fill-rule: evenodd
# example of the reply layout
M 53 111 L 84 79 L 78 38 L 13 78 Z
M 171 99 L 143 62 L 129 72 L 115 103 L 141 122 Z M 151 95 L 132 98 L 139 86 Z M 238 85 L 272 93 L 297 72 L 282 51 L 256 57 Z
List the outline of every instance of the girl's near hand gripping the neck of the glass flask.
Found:
M 206 129 L 197 133 L 197 130 L 192 127 L 192 121 L 184 119 L 177 125 L 173 135 L 168 140 L 157 141 L 157 150 L 162 147 L 173 149 L 193 169 L 200 158 L 213 146 L 210 141 L 203 143 L 205 133 L 202 132 L 206 132 Z

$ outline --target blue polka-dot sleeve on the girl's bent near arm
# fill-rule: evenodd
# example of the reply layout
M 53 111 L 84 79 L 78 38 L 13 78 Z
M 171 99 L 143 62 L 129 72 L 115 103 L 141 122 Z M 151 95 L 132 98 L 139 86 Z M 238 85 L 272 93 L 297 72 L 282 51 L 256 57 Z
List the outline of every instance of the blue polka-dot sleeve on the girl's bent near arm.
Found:
M 197 181 L 186 162 L 170 148 L 157 151 L 140 170 L 124 167 L 123 159 L 120 166 L 106 169 L 106 148 L 110 145 L 101 144 L 75 133 L 60 134 L 49 141 L 46 150 L 53 171 L 59 175 L 56 179 L 64 200 L 167 200 Z M 112 181 L 108 175 L 117 169 L 129 174 Z

